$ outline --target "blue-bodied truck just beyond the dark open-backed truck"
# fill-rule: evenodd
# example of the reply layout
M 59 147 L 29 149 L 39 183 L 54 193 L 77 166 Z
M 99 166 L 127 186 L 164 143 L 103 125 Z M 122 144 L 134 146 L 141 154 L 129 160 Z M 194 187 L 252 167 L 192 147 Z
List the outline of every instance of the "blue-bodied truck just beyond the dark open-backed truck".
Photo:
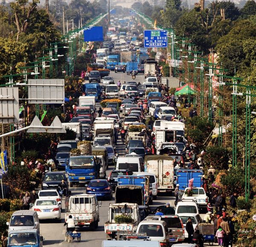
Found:
M 144 205 L 148 205 L 149 202 L 153 202 L 149 178 L 146 176 L 118 176 L 117 185 L 141 186 L 144 194 Z

